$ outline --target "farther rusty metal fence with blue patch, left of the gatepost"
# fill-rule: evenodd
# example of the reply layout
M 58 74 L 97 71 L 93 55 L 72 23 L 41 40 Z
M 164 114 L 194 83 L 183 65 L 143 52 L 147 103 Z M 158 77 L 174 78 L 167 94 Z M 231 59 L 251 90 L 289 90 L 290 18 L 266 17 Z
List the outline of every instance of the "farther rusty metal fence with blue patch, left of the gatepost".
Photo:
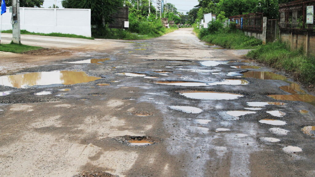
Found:
M 236 28 L 244 31 L 262 31 L 263 13 L 251 13 L 229 17 L 230 22 L 236 22 Z

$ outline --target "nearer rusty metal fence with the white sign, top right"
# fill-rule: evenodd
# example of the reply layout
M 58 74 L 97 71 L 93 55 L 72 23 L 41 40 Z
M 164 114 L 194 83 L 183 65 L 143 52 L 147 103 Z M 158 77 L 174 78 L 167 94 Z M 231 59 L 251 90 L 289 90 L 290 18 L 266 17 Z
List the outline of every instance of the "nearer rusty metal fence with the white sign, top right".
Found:
M 314 22 L 313 24 L 306 23 L 307 6 L 315 6 L 315 0 L 300 0 L 279 4 L 280 31 L 315 35 Z

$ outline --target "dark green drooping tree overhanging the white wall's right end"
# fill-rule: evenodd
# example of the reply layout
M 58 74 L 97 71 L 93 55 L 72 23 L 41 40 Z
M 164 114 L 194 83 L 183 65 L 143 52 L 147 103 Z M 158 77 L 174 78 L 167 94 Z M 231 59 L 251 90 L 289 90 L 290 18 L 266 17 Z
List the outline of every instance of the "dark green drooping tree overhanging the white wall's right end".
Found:
M 112 22 L 111 15 L 123 6 L 123 0 L 63 0 L 64 8 L 91 9 L 91 23 L 101 26 Z

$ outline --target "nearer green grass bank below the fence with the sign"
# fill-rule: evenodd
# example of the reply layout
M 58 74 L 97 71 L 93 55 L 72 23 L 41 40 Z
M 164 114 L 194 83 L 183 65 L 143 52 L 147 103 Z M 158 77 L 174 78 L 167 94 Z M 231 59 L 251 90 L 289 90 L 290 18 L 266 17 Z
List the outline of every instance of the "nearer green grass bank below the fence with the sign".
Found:
M 291 51 L 286 43 L 275 42 L 259 46 L 246 57 L 291 72 L 295 79 L 303 83 L 315 84 L 315 57 L 306 57 L 303 50 Z

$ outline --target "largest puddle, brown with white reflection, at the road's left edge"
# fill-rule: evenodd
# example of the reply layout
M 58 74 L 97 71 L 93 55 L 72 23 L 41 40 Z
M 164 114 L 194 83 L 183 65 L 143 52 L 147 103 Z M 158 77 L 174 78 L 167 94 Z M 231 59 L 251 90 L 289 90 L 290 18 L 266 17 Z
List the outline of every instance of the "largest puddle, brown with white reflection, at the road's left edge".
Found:
M 0 85 L 15 88 L 28 88 L 34 85 L 72 85 L 77 83 L 87 83 L 97 79 L 101 79 L 101 77 L 88 76 L 83 71 L 31 72 L 26 74 L 1 76 Z

